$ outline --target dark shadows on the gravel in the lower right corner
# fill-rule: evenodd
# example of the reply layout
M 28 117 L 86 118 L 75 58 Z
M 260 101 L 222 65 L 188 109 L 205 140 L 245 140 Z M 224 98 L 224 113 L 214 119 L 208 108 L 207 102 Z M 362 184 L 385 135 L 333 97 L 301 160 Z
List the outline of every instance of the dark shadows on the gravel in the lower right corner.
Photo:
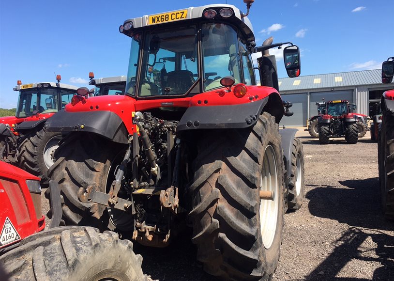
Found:
M 384 219 L 381 213 L 378 178 L 345 180 L 339 183 L 346 188 L 318 186 L 306 194 L 306 198 L 310 200 L 308 208 L 312 215 L 335 219 L 352 227 L 334 242 L 333 252 L 305 277 L 305 280 L 369 280 L 335 277 L 354 259 L 381 264 L 381 267 L 375 270 L 373 280 L 394 280 L 394 237 L 382 232 L 393 231 L 394 223 Z M 360 246 L 368 237 L 371 237 L 377 246 L 366 250 L 364 246 Z M 375 252 L 377 257 L 364 254 L 365 251 Z

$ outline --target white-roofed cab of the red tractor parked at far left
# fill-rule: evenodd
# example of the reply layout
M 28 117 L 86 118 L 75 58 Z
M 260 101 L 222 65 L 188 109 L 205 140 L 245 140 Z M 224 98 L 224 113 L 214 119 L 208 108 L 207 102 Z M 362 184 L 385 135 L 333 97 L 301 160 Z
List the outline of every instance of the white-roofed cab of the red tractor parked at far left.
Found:
M 19 92 L 16 118 L 27 118 L 36 114 L 55 113 L 64 109 L 76 94 L 77 87 L 58 82 L 42 82 L 23 84 L 18 80 L 14 91 Z

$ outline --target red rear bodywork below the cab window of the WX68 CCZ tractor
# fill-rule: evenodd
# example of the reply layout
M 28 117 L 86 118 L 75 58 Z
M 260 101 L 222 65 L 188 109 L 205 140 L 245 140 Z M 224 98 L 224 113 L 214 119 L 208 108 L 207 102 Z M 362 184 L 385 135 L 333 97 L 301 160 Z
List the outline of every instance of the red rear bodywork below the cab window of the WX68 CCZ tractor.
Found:
M 81 111 L 112 111 L 117 114 L 130 134 L 136 132 L 136 125 L 133 124 L 132 118 L 136 111 L 145 111 L 160 107 L 183 107 L 189 108 L 193 106 L 224 106 L 251 103 L 261 100 L 272 93 L 279 93 L 265 86 L 246 86 L 247 93 L 239 98 L 234 93 L 228 92 L 226 88 L 216 89 L 214 91 L 196 94 L 189 97 L 172 97 L 172 98 L 155 98 L 146 99 L 128 95 L 105 95 L 89 98 L 81 98 L 75 105 L 67 104 L 65 111 L 81 112 Z M 234 87 L 232 87 L 234 89 Z M 161 97 L 161 96 L 158 96 Z M 164 96 L 163 96 L 164 97 Z

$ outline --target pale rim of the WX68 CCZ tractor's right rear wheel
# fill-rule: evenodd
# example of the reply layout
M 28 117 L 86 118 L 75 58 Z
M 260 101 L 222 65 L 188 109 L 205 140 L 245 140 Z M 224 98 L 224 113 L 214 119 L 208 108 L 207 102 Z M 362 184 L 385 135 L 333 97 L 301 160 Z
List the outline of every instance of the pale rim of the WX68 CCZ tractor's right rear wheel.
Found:
M 263 168 L 260 177 L 260 190 L 273 191 L 274 200 L 260 200 L 260 232 L 264 248 L 269 249 L 275 238 L 279 208 L 278 169 L 275 151 L 268 145 L 264 152 Z

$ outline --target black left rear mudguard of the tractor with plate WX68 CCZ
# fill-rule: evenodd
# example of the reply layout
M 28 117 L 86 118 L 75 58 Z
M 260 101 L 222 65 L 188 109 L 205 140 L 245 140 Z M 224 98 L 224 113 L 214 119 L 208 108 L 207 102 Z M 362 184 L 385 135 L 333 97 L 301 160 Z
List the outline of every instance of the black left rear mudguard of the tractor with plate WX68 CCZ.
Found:
M 62 133 L 90 132 L 120 143 L 127 143 L 129 135 L 121 118 L 111 111 L 61 110 L 48 119 L 45 128 Z

